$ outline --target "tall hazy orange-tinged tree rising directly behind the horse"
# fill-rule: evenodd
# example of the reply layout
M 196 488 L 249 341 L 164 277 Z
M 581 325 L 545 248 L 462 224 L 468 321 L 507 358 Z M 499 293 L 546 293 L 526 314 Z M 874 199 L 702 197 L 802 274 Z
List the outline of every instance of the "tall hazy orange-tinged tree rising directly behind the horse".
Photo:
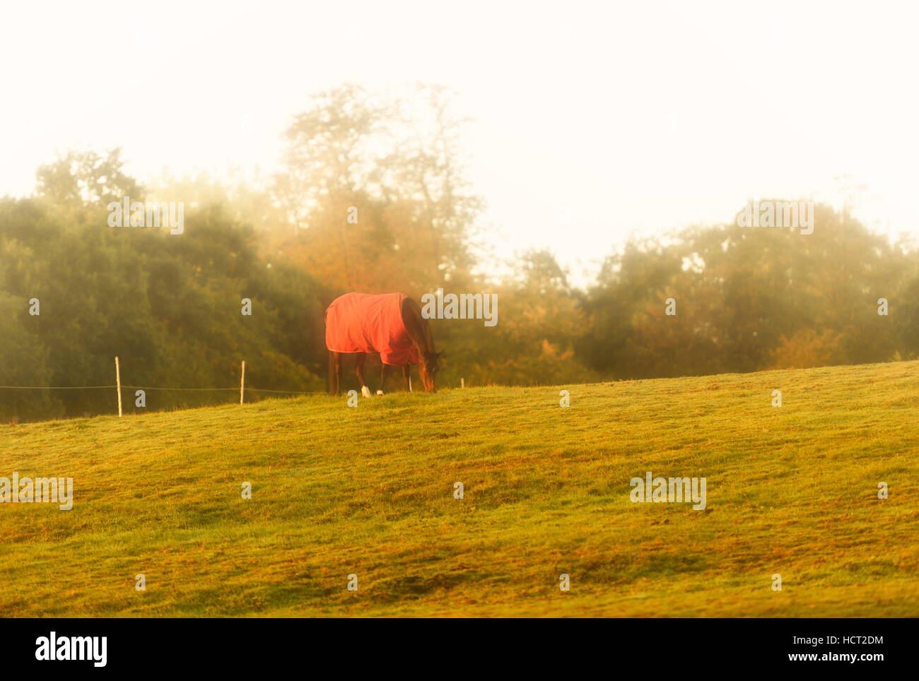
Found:
M 459 160 L 462 121 L 442 88 L 406 97 L 344 85 L 286 132 L 275 186 L 295 230 L 277 250 L 333 288 L 433 291 L 468 276 L 482 201 Z

